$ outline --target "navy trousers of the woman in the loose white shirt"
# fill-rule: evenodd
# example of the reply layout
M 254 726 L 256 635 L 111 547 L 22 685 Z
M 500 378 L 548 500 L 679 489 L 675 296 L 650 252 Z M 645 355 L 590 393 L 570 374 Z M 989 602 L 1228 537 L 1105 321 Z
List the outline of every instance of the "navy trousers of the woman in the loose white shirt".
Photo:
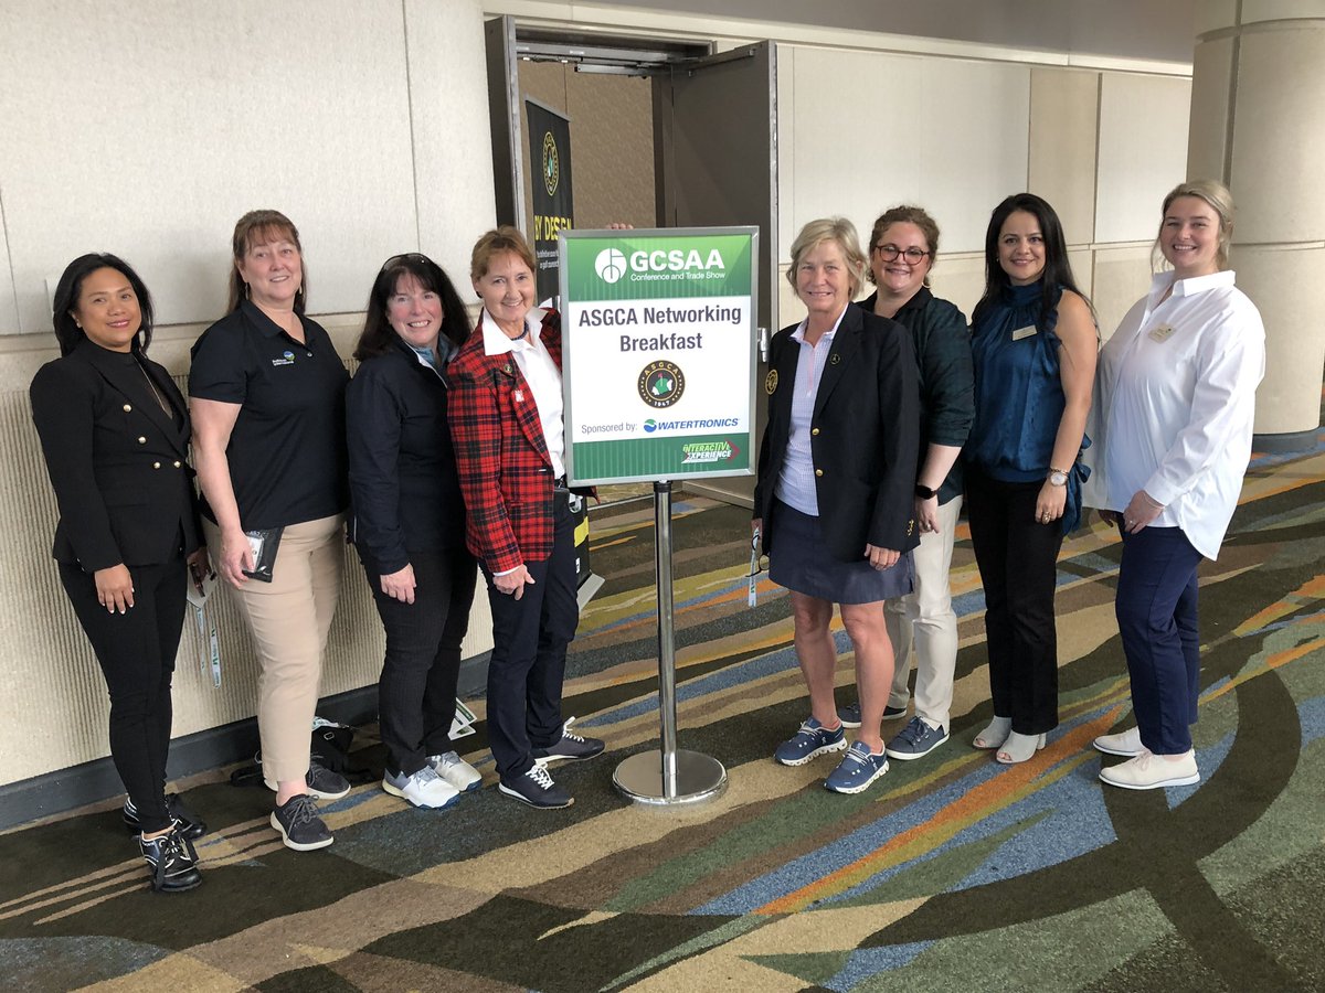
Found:
M 1199 564 L 1200 552 L 1182 528 L 1147 527 L 1122 536 L 1114 612 L 1141 744 L 1155 755 L 1191 748 L 1200 692 Z

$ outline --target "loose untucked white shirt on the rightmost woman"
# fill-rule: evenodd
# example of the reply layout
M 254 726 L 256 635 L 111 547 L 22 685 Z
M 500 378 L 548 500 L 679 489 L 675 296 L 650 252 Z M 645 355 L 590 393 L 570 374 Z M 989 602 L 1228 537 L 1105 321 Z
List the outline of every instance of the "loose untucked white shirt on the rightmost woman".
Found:
M 1165 504 L 1151 526 L 1181 527 L 1214 559 L 1242 493 L 1264 373 L 1265 327 L 1234 273 L 1155 275 L 1100 352 L 1085 503 L 1122 511 L 1145 490 Z

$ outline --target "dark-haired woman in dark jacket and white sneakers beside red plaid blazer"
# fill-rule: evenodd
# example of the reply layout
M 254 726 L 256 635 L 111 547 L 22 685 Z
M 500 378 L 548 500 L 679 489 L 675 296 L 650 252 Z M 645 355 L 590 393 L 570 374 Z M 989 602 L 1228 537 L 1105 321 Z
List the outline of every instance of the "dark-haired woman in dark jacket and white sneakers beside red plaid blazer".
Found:
M 465 307 L 441 267 L 419 254 L 388 258 L 346 391 L 350 538 L 387 632 L 382 788 L 424 808 L 449 806 L 482 779 L 450 743 L 477 575 L 447 420 L 447 365 L 466 338 Z

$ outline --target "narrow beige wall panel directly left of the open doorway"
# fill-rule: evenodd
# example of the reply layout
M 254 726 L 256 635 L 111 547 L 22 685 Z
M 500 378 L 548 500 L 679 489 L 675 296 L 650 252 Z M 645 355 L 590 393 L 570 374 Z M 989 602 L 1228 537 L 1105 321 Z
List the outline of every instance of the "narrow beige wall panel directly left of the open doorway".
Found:
M 405 233 L 407 241 L 388 253 L 417 244 L 468 299 L 469 250 L 497 218 L 482 9 L 476 0 L 405 0 L 404 12 L 419 230 L 417 241 Z M 391 230 L 411 214 L 394 218 L 378 208 L 368 220 Z M 359 282 L 367 299 L 368 285 L 363 277 Z

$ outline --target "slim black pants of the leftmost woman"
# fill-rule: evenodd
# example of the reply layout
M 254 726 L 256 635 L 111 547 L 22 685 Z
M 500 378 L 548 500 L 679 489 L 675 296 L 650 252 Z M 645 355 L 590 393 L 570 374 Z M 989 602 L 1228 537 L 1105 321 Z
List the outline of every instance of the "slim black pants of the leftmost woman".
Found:
M 123 614 L 97 602 L 97 584 L 60 563 L 60 581 L 87 633 L 110 691 L 110 756 L 138 808 L 144 834 L 170 828 L 166 755 L 170 751 L 171 677 L 187 597 L 184 559 L 132 565 L 134 605 Z

